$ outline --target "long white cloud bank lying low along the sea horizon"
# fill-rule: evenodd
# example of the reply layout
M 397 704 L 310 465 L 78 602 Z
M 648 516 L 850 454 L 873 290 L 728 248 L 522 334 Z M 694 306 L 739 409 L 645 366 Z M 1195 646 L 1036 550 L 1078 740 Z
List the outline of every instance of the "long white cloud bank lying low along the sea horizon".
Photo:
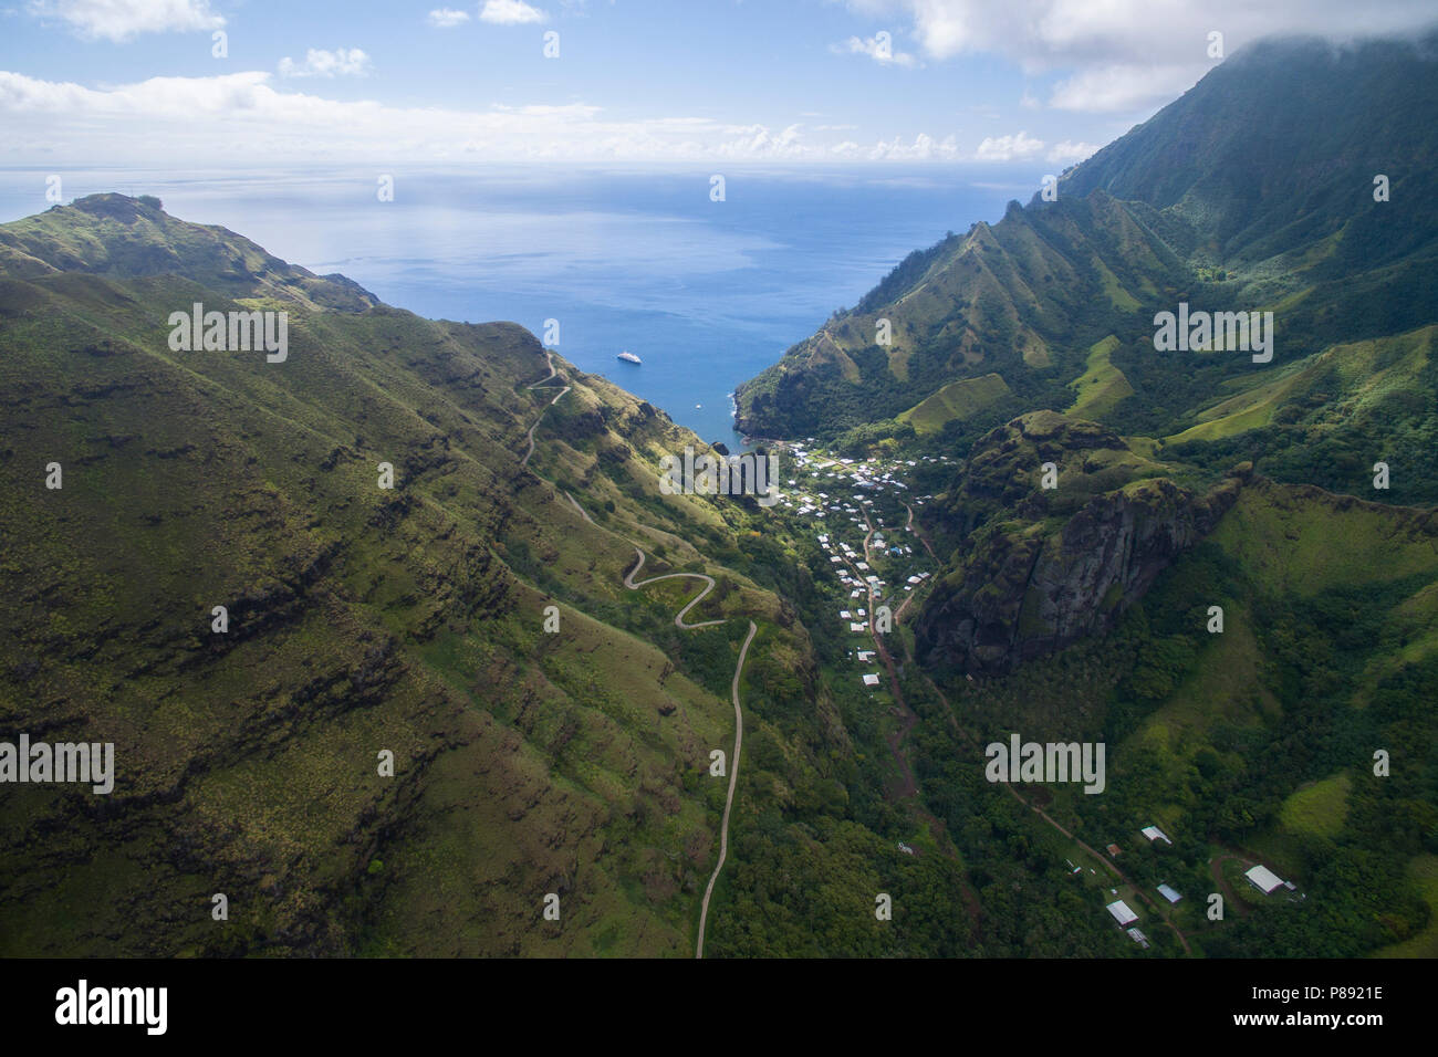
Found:
M 802 124 L 617 119 L 585 102 L 390 106 L 326 99 L 292 85 L 272 73 L 243 72 L 89 88 L 0 72 L 0 127 L 12 164 L 966 160 L 952 135 L 864 145 L 853 132 Z M 1027 137 L 1021 148 L 1024 142 Z

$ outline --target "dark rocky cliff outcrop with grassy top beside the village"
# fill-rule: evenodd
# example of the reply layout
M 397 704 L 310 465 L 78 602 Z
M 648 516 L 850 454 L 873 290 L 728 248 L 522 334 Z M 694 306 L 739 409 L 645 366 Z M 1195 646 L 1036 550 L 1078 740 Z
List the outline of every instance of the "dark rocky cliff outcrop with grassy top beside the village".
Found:
M 1058 488 L 1028 483 L 1037 485 L 1043 463 L 1054 465 Z M 985 437 L 955 490 L 968 535 L 958 568 L 919 617 L 920 656 L 1001 673 L 1109 630 L 1181 551 L 1214 529 L 1248 473 L 1241 467 L 1201 495 L 1145 476 L 1162 469 L 1116 434 L 1051 413 Z M 1104 490 L 1123 477 L 1130 480 Z

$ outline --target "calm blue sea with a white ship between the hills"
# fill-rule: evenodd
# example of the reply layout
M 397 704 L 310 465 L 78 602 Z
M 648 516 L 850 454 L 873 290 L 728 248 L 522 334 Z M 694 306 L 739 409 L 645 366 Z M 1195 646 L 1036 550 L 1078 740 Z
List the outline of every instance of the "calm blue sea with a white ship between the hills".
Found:
M 853 305 L 910 250 L 1028 200 L 1041 173 L 893 165 L 725 170 L 354 168 L 62 173 L 63 198 L 155 194 L 270 253 L 341 272 L 420 315 L 509 319 L 584 371 L 739 447 L 729 394 Z M 45 177 L 0 170 L 0 220 L 39 213 Z M 628 349 L 641 365 L 618 361 Z

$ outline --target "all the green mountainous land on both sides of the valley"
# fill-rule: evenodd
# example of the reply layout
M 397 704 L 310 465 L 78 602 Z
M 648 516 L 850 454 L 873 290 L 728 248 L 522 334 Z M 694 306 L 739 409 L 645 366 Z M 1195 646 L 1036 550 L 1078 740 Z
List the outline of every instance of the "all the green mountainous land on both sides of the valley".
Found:
M 746 384 L 853 528 L 663 495 L 699 439 L 513 324 L 152 198 L 0 226 L 0 741 L 116 749 L 0 787 L 0 952 L 689 958 L 732 685 L 705 956 L 1438 952 L 1432 56 L 1235 55 Z M 289 355 L 173 351 L 196 302 Z M 1156 352 L 1179 302 L 1273 361 Z M 1014 735 L 1104 794 L 991 781 Z

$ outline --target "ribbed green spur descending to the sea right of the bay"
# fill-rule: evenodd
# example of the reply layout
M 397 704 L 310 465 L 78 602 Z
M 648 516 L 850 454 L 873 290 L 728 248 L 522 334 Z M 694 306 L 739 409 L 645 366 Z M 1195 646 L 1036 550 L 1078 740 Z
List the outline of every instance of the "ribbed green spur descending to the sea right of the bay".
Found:
M 1061 408 L 1061 381 L 1081 372 L 1080 349 L 1133 318 L 1140 299 L 1185 282 L 1155 226 L 1152 210 L 1102 193 L 1048 209 L 1012 203 L 998 224 L 975 224 L 917 267 L 902 265 L 903 289 L 881 285 L 745 383 L 739 427 L 834 436 L 989 374 L 1028 406 Z

